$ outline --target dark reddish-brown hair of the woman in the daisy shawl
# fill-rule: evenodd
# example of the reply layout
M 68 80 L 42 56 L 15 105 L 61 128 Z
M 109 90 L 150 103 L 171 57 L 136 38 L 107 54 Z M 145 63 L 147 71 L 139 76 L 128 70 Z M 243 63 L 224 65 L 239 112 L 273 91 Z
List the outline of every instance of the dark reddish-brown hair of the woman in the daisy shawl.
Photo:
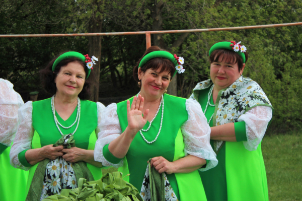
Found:
M 248 58 L 249 58 L 248 52 L 247 51 L 244 52 L 244 55 L 246 57 L 246 62 L 247 62 Z M 221 60 L 219 60 L 219 59 L 221 59 Z M 243 67 L 243 61 L 242 61 L 241 56 L 238 53 L 236 53 L 235 51 L 229 50 L 229 49 L 214 50 L 211 53 L 209 60 L 210 60 L 210 63 L 218 62 L 218 61 L 222 61 L 222 60 L 224 60 L 227 63 L 232 63 L 232 64 L 237 63 L 239 72 L 242 70 L 242 67 Z

